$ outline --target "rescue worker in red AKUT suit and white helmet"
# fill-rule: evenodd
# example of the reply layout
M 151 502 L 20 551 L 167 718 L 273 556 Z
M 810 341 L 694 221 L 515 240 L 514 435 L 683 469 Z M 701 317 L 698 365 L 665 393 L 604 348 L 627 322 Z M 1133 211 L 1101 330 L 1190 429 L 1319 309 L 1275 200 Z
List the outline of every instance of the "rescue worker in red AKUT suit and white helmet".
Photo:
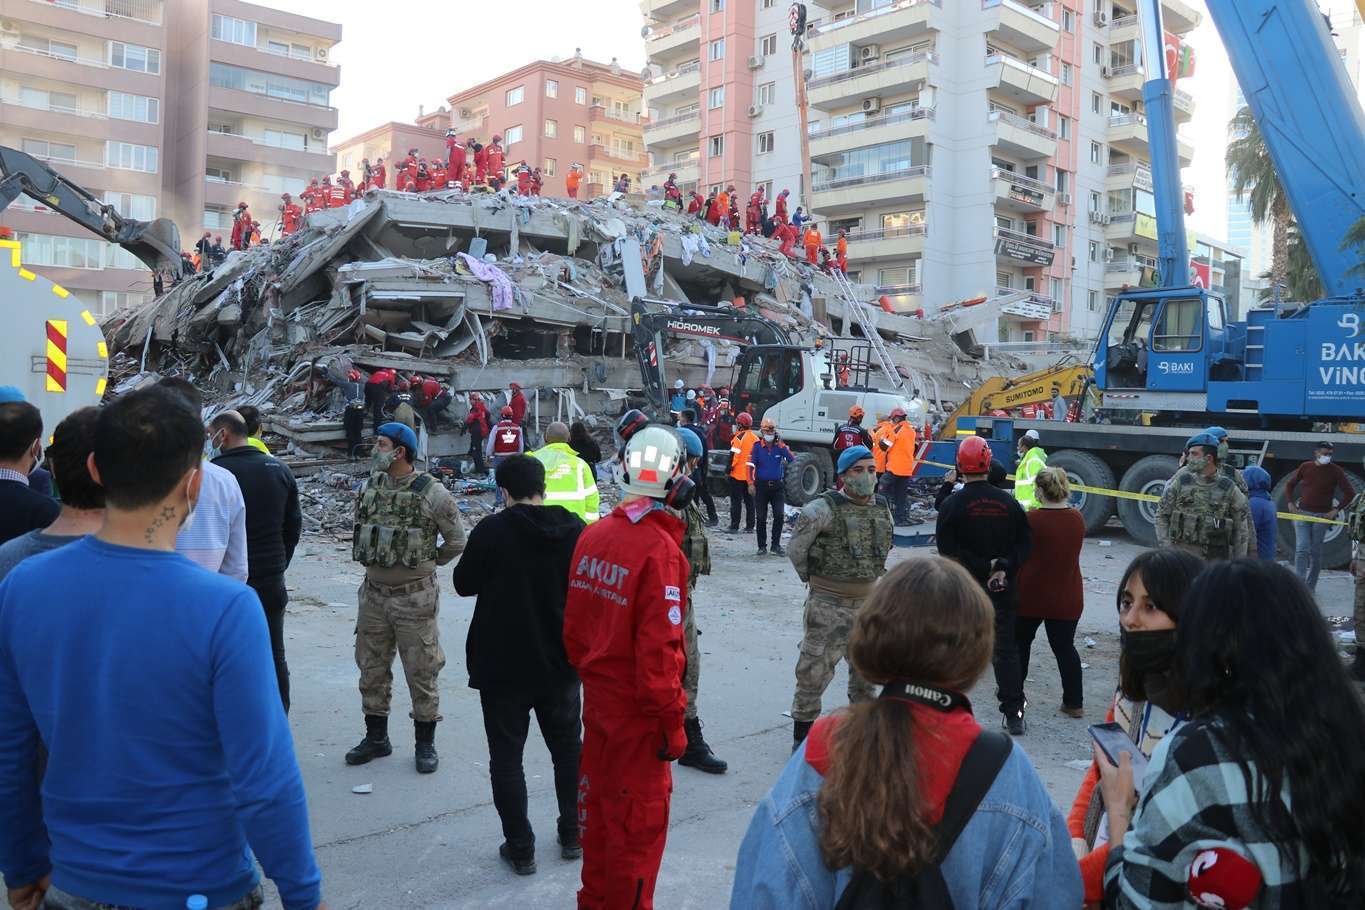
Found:
M 678 434 L 625 443 L 625 497 L 579 538 L 564 645 L 583 679 L 579 907 L 652 910 L 667 838 L 672 761 L 687 750 L 682 692 L 691 480 Z

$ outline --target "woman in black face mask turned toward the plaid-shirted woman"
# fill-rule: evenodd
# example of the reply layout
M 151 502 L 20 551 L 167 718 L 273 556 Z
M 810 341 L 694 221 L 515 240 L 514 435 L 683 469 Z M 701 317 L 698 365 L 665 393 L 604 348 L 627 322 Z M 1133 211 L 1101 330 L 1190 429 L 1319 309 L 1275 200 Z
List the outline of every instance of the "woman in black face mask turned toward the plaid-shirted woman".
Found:
M 1204 561 L 1192 553 L 1147 550 L 1129 563 L 1118 584 L 1118 690 L 1106 720 L 1118 723 L 1144 756 L 1151 756 L 1175 726 L 1179 704 L 1170 685 L 1175 628 L 1185 592 L 1203 570 Z M 1087 907 L 1099 907 L 1104 898 L 1110 850 L 1099 780 L 1100 768 L 1092 763 L 1067 819 Z

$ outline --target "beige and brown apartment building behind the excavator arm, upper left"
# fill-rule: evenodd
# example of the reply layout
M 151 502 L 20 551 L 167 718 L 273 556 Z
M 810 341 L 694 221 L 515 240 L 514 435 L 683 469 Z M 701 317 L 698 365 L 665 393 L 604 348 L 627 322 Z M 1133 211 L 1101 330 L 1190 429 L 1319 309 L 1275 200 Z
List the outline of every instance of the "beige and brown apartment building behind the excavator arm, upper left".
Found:
M 239 201 L 269 231 L 280 192 L 332 169 L 340 37 L 239 0 L 0 0 L 0 145 L 123 214 L 173 218 L 186 247 Z M 31 199 L 0 224 L 91 311 L 152 293 L 132 256 Z

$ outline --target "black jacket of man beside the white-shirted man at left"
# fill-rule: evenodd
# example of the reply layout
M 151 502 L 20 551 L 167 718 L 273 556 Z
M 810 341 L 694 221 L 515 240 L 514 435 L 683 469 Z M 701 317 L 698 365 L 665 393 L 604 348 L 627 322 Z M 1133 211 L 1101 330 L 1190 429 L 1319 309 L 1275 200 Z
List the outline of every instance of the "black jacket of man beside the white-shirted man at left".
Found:
M 284 574 L 303 532 L 299 487 L 293 472 L 251 446 L 228 449 L 213 464 L 232 472 L 247 506 L 247 576 L 250 580 Z

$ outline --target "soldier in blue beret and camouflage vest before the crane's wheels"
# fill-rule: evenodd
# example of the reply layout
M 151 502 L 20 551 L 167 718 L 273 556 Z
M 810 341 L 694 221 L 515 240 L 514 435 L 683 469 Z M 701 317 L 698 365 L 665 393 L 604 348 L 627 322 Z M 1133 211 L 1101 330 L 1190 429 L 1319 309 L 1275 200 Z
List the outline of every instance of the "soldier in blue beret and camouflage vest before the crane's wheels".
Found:
M 1175 472 L 1156 506 L 1158 544 L 1204 559 L 1245 557 L 1250 547 L 1250 505 L 1220 473 L 1218 439 L 1207 430 L 1197 432 L 1186 450 L 1185 469 Z

